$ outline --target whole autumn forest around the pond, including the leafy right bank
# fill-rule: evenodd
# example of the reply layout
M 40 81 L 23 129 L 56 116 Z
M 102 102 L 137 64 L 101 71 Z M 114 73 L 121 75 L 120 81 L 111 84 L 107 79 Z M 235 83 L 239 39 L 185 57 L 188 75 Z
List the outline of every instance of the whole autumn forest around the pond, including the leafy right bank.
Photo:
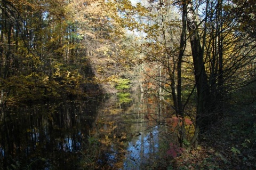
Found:
M 255 25 L 254 0 L 1 0 L 1 109 L 142 93 L 177 139 L 147 169 L 255 169 Z

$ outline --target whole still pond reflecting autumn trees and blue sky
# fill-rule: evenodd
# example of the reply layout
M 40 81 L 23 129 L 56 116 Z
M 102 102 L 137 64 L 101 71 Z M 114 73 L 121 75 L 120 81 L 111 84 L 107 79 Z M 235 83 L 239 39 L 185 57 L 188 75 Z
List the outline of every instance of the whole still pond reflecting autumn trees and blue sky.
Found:
M 167 110 L 152 96 L 130 94 L 2 107 L 0 169 L 165 166 L 167 146 L 177 140 L 163 124 Z

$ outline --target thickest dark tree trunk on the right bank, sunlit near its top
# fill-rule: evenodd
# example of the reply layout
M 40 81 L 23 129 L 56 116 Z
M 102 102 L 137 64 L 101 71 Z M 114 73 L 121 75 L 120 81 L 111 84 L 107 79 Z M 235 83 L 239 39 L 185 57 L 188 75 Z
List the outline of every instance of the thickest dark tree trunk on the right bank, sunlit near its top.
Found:
M 199 39 L 198 25 L 196 22 L 195 11 L 192 2 L 187 2 L 187 27 L 189 31 L 189 39 L 194 63 L 194 75 L 197 87 L 197 111 L 196 111 L 196 132 L 191 142 L 195 142 L 199 135 L 199 128 L 205 129 L 207 120 L 207 100 L 209 99 L 209 84 L 204 67 L 204 52 Z M 183 5 L 186 4 L 184 1 Z

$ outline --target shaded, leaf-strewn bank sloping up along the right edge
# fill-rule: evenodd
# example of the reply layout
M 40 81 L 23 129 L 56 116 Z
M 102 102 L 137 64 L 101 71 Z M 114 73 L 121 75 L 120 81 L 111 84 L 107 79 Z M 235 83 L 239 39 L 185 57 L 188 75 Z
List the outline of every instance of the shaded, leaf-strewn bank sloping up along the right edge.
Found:
M 199 147 L 175 158 L 169 169 L 256 169 L 256 102 L 248 98 L 251 92 L 234 94 L 241 100 L 231 102 Z

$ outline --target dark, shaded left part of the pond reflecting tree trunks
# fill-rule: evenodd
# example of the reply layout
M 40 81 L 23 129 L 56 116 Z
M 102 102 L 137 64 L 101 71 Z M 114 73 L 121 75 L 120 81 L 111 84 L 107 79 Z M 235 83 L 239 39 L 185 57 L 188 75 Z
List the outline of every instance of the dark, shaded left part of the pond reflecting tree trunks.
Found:
M 95 101 L 1 108 L 0 169 L 75 169 L 97 115 Z

